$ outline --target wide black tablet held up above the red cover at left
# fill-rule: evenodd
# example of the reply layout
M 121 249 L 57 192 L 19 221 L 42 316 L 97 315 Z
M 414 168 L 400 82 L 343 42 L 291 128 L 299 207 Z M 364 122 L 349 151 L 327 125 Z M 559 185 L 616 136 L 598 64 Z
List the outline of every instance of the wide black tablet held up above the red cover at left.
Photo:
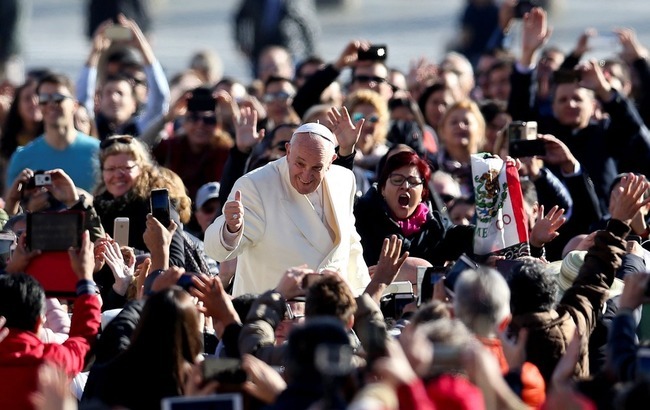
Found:
M 67 251 L 81 246 L 82 211 L 27 214 L 27 247 L 41 251 Z

